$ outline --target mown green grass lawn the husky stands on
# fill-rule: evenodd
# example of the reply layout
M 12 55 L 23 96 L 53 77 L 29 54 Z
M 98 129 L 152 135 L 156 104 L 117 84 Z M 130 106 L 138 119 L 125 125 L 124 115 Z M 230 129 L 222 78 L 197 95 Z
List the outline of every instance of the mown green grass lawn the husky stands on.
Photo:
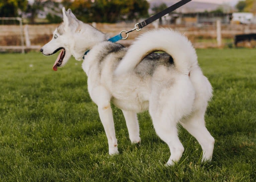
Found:
M 256 51 L 197 50 L 214 88 L 206 125 L 215 138 L 211 163 L 183 128 L 185 148 L 164 167 L 168 146 L 148 112 L 138 115 L 141 144 L 131 144 L 113 107 L 120 155 L 109 156 L 81 62 L 52 71 L 56 55 L 0 54 L 0 181 L 255 181 Z

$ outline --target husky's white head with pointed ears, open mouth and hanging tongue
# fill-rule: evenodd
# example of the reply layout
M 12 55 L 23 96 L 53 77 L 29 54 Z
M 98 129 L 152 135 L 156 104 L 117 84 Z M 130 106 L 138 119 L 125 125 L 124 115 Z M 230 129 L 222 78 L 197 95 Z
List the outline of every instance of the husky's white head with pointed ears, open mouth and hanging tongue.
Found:
M 71 56 L 78 61 L 82 60 L 85 51 L 105 39 L 105 34 L 78 20 L 71 9 L 66 11 L 63 7 L 62 13 L 63 22 L 54 30 L 50 42 L 40 49 L 45 56 L 61 50 L 53 65 L 55 71 L 57 67 L 64 66 Z

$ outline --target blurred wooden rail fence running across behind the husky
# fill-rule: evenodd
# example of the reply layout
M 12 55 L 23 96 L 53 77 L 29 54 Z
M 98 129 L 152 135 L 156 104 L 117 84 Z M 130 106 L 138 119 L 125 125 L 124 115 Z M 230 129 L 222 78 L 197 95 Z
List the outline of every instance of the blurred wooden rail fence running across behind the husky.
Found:
M 21 31 L 20 25 L 0 25 L 0 49 L 1 47 L 3 48 L 10 45 L 17 47 L 23 46 L 24 49 L 39 49 L 40 46 L 44 45 L 52 38 L 52 32 L 57 26 L 57 24 L 25 25 Z M 100 31 L 108 33 L 110 36 L 114 36 L 122 30 L 130 30 L 134 27 L 134 23 L 97 23 L 94 24 L 94 26 Z M 128 46 L 139 34 L 156 27 L 158 27 L 158 25 L 150 24 L 144 27 L 140 32 L 134 31 L 129 34 L 127 40 L 121 40 L 120 43 Z M 218 47 L 216 24 L 203 26 L 161 25 L 158 28 L 161 27 L 176 29 L 177 31 L 184 33 L 196 48 Z M 20 32 L 22 32 L 23 36 L 20 35 Z M 256 25 L 221 25 L 221 37 L 223 41 L 219 46 L 225 46 L 227 42 L 233 43 L 235 35 L 244 33 L 256 33 Z M 26 42 L 25 46 L 24 41 Z

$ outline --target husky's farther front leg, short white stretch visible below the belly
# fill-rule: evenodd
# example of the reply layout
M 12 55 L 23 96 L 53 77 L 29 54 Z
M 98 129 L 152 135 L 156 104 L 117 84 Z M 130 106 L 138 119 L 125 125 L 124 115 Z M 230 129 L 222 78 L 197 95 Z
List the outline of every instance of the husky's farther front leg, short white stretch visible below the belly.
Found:
M 122 110 L 125 118 L 125 122 L 127 125 L 129 138 L 132 143 L 140 142 L 140 134 L 139 134 L 139 123 L 137 119 L 137 113 L 132 111 Z

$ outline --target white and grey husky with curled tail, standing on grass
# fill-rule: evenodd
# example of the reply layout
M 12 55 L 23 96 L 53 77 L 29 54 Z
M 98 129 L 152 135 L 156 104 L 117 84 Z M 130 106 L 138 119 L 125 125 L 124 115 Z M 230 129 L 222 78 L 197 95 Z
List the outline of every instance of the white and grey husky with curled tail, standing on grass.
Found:
M 157 135 L 170 148 L 166 165 L 179 161 L 184 150 L 177 123 L 202 146 L 202 161 L 212 159 L 214 138 L 204 120 L 212 87 L 187 38 L 173 30 L 160 29 L 144 33 L 125 48 L 107 41 L 108 35 L 79 21 L 70 9 L 63 8 L 62 12 L 63 22 L 40 51 L 51 55 L 61 50 L 54 70 L 64 66 L 71 56 L 84 59 L 88 91 L 98 106 L 110 155 L 119 153 L 112 102 L 123 111 L 132 143 L 140 142 L 137 113 L 149 110 Z M 84 56 L 87 50 L 90 52 Z

